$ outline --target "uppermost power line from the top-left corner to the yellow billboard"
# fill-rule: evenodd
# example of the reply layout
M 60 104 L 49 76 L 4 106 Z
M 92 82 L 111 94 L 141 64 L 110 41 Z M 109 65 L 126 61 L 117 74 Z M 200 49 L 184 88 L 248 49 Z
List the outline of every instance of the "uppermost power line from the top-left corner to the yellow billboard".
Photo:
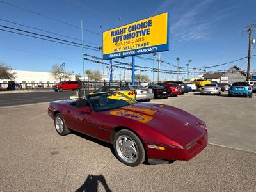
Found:
M 15 7 L 15 8 L 19 8 L 20 10 L 25 10 L 26 12 L 29 12 L 29 13 L 34 13 L 34 14 L 36 14 L 36 15 L 40 15 L 40 16 L 45 17 L 45 18 L 47 18 L 47 19 L 55 20 L 55 21 L 61 22 L 62 24 L 66 24 L 66 25 L 68 25 L 68 26 L 72 26 L 72 27 L 74 27 L 74 28 L 81 29 L 79 26 L 75 26 L 74 24 L 70 24 L 70 23 L 65 22 L 65 21 L 63 21 L 63 20 L 60 20 L 60 19 L 55 19 L 55 18 L 53 18 L 53 17 L 44 15 L 44 14 L 39 13 L 39 12 L 35 12 L 35 11 L 32 11 L 32 10 L 28 10 L 28 9 L 26 9 L 26 8 L 22 8 L 21 6 L 17 6 L 17 5 L 15 5 L 15 4 L 8 3 L 8 2 L 3 1 L 3 0 L 0 0 L 0 2 L 1 2 L 1 3 L 4 3 L 4 4 L 8 4 L 8 5 L 13 6 L 13 7 Z M 102 34 L 97 33 L 97 32 L 94 32 L 94 31 L 91 31 L 91 30 L 88 30 L 88 29 L 84 29 L 84 28 L 83 28 L 83 30 L 84 30 L 84 31 L 88 31 L 88 32 L 90 32 L 90 33 L 94 33 L 94 34 L 96 34 L 96 35 L 102 36 Z

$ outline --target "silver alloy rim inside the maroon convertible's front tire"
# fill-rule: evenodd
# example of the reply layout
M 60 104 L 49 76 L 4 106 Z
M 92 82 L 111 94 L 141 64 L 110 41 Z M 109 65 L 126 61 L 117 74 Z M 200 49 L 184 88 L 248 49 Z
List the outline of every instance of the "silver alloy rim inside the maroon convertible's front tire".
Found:
M 134 163 L 138 159 L 138 147 L 132 138 L 126 135 L 119 136 L 116 140 L 116 150 L 127 163 Z

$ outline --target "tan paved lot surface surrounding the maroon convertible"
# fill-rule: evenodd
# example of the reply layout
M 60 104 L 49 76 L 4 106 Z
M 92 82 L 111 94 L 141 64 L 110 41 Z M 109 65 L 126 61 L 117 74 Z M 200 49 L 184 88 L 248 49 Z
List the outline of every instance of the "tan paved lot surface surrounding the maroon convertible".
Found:
M 113 156 L 111 145 L 81 134 L 59 136 L 47 103 L 5 107 L 0 191 L 256 191 L 255 95 L 189 93 L 152 102 L 204 120 L 210 143 L 243 150 L 209 144 L 191 161 L 131 168 Z

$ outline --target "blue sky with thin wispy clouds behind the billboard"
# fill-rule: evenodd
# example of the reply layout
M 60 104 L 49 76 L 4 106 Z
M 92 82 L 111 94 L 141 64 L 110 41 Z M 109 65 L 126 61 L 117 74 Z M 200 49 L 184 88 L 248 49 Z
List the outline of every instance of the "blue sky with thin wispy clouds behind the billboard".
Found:
M 3 1 L 14 6 L 3 3 Z M 17 6 L 30 12 L 17 8 Z M 244 32 L 244 28 L 256 23 L 255 8 L 255 0 L 1 0 L 0 25 L 81 43 L 81 29 L 79 27 L 81 20 L 83 20 L 86 29 L 84 31 L 85 44 L 100 47 L 102 46 L 101 34 L 103 31 L 159 13 L 169 12 L 170 48 L 169 51 L 161 52 L 161 60 L 177 65 L 176 58 L 179 57 L 179 66 L 181 67 L 186 67 L 187 61 L 192 60 L 190 67 L 202 67 L 204 69 L 205 66 L 234 61 L 248 55 L 248 33 Z M 10 22 L 51 31 L 77 40 Z M 0 27 L 0 29 L 6 28 Z M 256 38 L 255 31 L 253 31 L 252 36 Z M 90 49 L 85 49 L 85 53 L 102 56 L 102 52 Z M 256 54 L 255 44 L 252 44 L 253 54 Z M 152 54 L 145 54 L 143 57 L 153 58 Z M 255 58 L 252 57 L 251 70 L 256 68 Z M 115 60 L 123 61 L 121 59 Z M 135 60 L 136 65 L 153 66 L 152 60 L 138 57 Z M 6 31 L 0 31 L 0 61 L 10 65 L 15 70 L 44 72 L 51 71 L 54 64 L 65 63 L 67 72 L 83 73 L 80 47 L 56 44 Z M 131 61 L 131 57 L 127 57 L 126 61 Z M 105 62 L 109 63 L 109 61 Z M 207 69 L 207 71 L 227 70 L 234 64 L 246 70 L 247 60 L 214 67 Z M 86 61 L 85 68 L 102 70 L 102 65 Z M 161 64 L 161 68 L 176 70 L 176 68 L 164 63 Z M 113 72 L 114 79 L 118 79 L 119 74 L 123 77 L 124 70 L 115 69 Z M 141 72 L 141 74 L 147 74 L 152 78 L 152 72 Z M 160 79 L 173 79 L 176 76 L 176 74 L 160 74 Z

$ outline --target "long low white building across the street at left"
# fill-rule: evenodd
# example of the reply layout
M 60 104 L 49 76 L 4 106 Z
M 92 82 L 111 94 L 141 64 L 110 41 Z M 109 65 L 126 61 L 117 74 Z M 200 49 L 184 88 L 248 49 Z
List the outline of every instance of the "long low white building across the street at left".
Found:
M 58 81 L 51 76 L 51 72 L 35 72 L 26 70 L 12 70 L 12 72 L 16 73 L 15 83 L 58 83 Z M 71 75 L 70 77 L 70 79 L 66 80 L 75 80 L 74 75 Z M 0 79 L 0 83 L 8 83 L 8 80 Z

